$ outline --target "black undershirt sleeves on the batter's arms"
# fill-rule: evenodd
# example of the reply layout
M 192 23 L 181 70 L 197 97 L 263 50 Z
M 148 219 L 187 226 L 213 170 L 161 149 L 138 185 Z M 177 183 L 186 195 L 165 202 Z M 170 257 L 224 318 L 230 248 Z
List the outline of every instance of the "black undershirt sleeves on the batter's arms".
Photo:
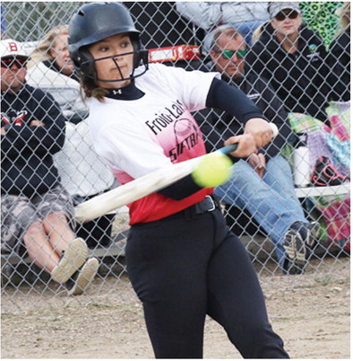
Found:
M 214 78 L 211 83 L 206 99 L 206 107 L 225 110 L 244 123 L 252 118 L 265 119 L 261 110 L 256 107 L 253 101 L 247 98 L 244 92 L 217 78 Z M 233 162 L 237 162 L 237 158 L 230 158 Z M 188 175 L 180 181 L 159 190 L 159 193 L 168 198 L 181 200 L 201 189 L 202 187 L 199 187 L 194 182 L 193 177 Z

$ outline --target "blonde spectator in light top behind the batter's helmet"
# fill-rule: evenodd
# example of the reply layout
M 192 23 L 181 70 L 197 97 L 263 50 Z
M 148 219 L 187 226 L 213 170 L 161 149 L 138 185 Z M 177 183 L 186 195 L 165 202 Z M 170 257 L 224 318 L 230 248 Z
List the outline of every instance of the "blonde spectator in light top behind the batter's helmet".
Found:
M 68 50 L 68 25 L 58 25 L 47 33 L 30 55 L 27 81 L 50 92 L 66 120 L 78 123 L 88 115 L 82 102 L 80 84 Z

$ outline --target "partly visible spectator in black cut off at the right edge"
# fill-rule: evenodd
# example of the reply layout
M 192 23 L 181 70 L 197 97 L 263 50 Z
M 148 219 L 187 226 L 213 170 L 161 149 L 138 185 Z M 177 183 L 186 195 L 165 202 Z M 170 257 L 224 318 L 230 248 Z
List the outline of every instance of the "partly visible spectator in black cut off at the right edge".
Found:
M 329 48 L 329 65 L 333 101 L 350 101 L 350 3 L 336 11 L 340 16 L 340 31 Z

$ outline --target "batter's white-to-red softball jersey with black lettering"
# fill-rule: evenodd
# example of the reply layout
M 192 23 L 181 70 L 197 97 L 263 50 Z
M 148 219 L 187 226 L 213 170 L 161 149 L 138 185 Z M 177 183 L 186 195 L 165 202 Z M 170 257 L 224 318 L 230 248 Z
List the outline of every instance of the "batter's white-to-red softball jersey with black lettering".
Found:
M 141 98 L 88 101 L 94 148 L 117 181 L 124 184 L 170 163 L 205 154 L 202 134 L 191 112 L 205 108 L 216 75 L 152 64 L 146 74 L 135 79 L 136 87 L 144 93 Z M 202 189 L 198 193 L 182 201 L 158 194 L 149 196 L 148 202 L 145 198 L 136 201 L 130 207 L 131 223 L 176 213 L 210 191 Z

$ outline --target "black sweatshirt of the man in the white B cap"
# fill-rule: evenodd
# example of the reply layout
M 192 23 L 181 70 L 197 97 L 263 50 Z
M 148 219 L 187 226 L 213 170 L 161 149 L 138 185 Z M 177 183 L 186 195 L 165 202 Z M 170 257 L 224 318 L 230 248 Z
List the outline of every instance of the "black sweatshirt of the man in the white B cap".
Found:
M 13 95 L 2 92 L 1 192 L 31 198 L 59 182 L 53 163 L 65 142 L 65 119 L 54 98 L 24 85 Z M 44 127 L 30 127 L 39 120 Z

